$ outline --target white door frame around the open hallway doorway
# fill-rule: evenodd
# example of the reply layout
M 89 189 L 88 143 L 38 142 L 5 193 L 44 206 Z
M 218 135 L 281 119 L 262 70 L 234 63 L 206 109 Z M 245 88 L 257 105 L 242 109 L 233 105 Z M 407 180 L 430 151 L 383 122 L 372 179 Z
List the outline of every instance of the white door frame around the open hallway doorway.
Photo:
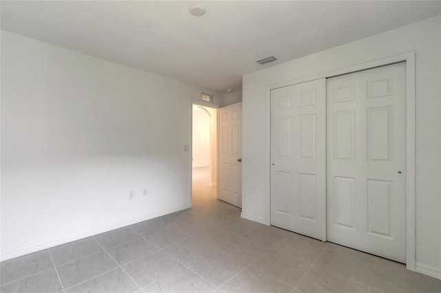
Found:
M 218 182 L 219 182 L 219 105 L 211 102 L 205 102 L 203 100 L 189 100 L 189 147 L 188 147 L 188 160 L 189 160 L 189 208 L 193 206 L 193 105 L 202 106 L 207 108 L 216 109 L 216 197 L 219 196 Z

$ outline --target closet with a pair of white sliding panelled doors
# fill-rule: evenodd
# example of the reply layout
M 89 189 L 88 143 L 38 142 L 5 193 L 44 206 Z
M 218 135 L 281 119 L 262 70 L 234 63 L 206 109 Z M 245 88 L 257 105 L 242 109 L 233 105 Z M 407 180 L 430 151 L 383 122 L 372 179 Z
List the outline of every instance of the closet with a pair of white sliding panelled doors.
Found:
M 271 90 L 271 225 L 406 261 L 406 64 Z

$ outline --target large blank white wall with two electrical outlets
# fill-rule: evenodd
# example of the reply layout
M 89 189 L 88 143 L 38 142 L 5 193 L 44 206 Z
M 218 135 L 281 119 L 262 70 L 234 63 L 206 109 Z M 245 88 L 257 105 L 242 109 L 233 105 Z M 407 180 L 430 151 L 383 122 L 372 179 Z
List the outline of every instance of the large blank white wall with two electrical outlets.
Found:
M 201 91 L 2 31 L 1 259 L 189 208 Z

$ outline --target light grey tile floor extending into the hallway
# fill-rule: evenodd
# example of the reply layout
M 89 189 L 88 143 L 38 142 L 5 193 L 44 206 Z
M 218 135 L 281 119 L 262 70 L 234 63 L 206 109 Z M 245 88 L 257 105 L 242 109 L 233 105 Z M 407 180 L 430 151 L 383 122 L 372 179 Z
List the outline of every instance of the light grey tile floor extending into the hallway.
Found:
M 441 292 L 400 263 L 241 219 L 205 179 L 191 209 L 1 262 L 0 292 Z

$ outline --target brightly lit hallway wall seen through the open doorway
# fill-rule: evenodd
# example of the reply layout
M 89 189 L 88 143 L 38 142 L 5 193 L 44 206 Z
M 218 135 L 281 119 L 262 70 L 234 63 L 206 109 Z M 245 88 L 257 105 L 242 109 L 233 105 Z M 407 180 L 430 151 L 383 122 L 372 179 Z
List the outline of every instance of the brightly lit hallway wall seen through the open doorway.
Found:
M 209 115 L 201 107 L 193 107 L 193 168 L 209 166 Z

